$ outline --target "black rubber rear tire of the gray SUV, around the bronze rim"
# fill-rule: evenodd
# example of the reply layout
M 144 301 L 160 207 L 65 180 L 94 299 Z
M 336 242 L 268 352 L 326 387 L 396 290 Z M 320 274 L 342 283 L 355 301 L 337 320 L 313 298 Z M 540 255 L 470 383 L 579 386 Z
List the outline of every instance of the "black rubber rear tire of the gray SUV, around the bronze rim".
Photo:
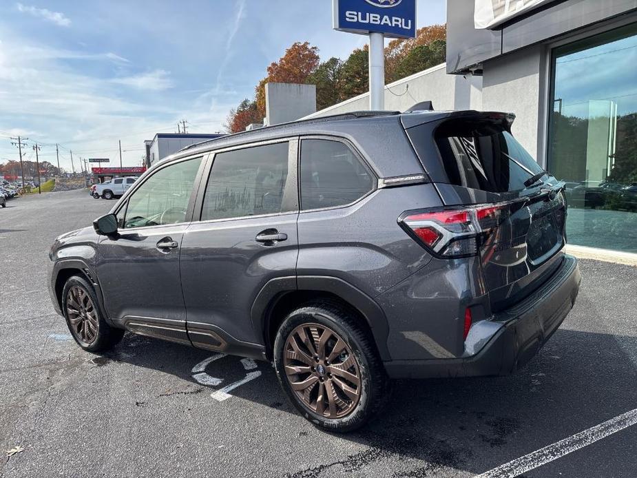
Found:
M 291 380 L 286 374 L 285 350 L 288 345 L 290 335 L 300 330 L 300 326 L 304 324 L 318 324 L 331 329 L 344 342 L 348 349 L 352 352 L 357 362 L 356 372 L 359 374 L 359 398 L 355 406 L 342 417 L 325 417 L 325 413 L 331 411 L 323 411 L 318 415 L 312 409 L 311 404 L 308 405 L 297 396 L 293 391 Z M 309 326 L 310 327 L 310 326 Z M 297 342 L 298 344 L 299 342 Z M 309 349 L 308 349 L 309 350 Z M 385 368 L 382 364 L 377 350 L 375 348 L 371 334 L 366 331 L 355 319 L 353 313 L 348 311 L 346 307 L 328 301 L 313 302 L 296 309 L 290 313 L 282 322 L 274 342 L 274 365 L 276 373 L 287 398 L 299 411 L 299 413 L 309 420 L 318 428 L 335 432 L 346 433 L 356 430 L 364 426 L 379 411 L 382 410 L 390 397 L 390 380 L 386 375 Z M 348 355 L 346 355 L 348 356 Z M 287 359 L 289 360 L 289 358 Z M 317 359 L 315 359 L 317 360 Z M 349 359 L 348 359 L 349 360 Z M 317 362 L 318 363 L 318 362 Z M 321 362 L 323 363 L 323 362 Z M 328 362 L 326 362 L 328 364 Z M 334 365 L 334 364 L 331 364 Z M 318 365 L 312 370 L 318 369 Z M 330 370 L 327 367 L 327 370 Z M 326 367 L 322 368 L 322 374 Z M 350 368 L 353 371 L 353 368 Z M 310 373 L 310 375 L 316 375 Z M 329 375 L 332 380 L 332 375 Z M 295 376 L 297 380 L 305 380 L 306 375 Z M 321 377 L 320 383 L 323 384 L 328 377 Z M 338 377 L 337 377 L 338 378 Z M 326 391 L 326 386 L 319 385 L 319 392 Z M 332 390 L 336 390 L 335 385 L 330 385 Z M 313 393 L 313 392 L 311 392 Z M 316 395 L 317 395 L 316 394 Z M 310 395 L 310 394 L 309 394 Z M 316 408 L 316 407 L 315 407 Z

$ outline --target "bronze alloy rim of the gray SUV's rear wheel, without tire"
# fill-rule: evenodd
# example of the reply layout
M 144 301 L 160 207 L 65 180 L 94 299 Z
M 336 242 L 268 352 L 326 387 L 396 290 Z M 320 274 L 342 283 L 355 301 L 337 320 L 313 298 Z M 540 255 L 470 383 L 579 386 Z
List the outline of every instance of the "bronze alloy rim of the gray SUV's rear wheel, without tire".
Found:
M 335 331 L 302 324 L 285 342 L 287 380 L 300 402 L 313 413 L 341 418 L 353 412 L 361 395 L 360 367 Z

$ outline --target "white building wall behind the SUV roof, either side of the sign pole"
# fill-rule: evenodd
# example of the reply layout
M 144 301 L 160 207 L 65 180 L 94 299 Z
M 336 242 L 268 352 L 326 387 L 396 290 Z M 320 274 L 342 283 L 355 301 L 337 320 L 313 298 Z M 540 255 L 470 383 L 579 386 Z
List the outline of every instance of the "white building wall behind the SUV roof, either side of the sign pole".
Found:
M 385 86 L 385 110 L 405 111 L 421 101 L 432 101 L 435 110 L 481 110 L 480 76 L 446 74 L 446 64 L 418 72 Z M 369 110 L 369 93 L 310 114 L 305 118 Z

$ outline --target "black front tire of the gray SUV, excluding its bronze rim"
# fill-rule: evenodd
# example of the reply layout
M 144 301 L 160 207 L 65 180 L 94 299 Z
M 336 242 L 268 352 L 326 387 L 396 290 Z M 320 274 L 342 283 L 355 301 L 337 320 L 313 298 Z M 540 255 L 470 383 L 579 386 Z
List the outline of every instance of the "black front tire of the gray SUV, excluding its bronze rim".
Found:
M 74 288 L 79 288 L 85 291 L 88 299 L 90 299 L 93 304 L 92 310 L 94 311 L 94 313 L 92 315 L 94 315 L 94 320 L 96 320 L 97 330 L 91 340 L 84 340 L 84 338 L 81 336 L 81 333 L 79 333 L 79 331 L 76 331 L 76 329 L 74 329 L 74 326 L 72 326 L 71 324 L 71 320 L 73 319 L 70 318 L 70 302 L 68 302 L 68 296 L 71 289 Z M 66 281 L 62 290 L 61 303 L 62 312 L 66 320 L 66 325 L 75 342 L 77 342 L 77 344 L 81 346 L 82 349 L 84 349 L 85 351 L 107 351 L 109 349 L 112 349 L 120 340 L 122 340 L 122 337 L 124 336 L 124 330 L 115 329 L 114 327 L 107 324 L 107 322 L 104 320 L 104 314 L 100 309 L 95 291 L 93 290 L 93 287 L 91 287 L 91 284 L 89 284 L 85 278 L 81 276 L 72 276 L 69 280 Z

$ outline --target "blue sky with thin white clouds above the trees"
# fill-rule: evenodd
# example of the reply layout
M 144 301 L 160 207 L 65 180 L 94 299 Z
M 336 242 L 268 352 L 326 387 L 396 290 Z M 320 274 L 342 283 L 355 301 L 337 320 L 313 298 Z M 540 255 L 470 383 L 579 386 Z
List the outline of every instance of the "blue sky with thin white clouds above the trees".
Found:
M 446 0 L 417 0 L 418 26 L 444 23 Z M 329 0 L 4 1 L 0 15 L 0 163 L 8 136 L 42 143 L 41 158 L 138 165 L 143 140 L 216 132 L 294 41 L 346 58 L 366 37 L 331 30 Z M 29 156 L 32 149 L 28 149 Z M 117 161 L 115 161 L 117 159 Z M 77 163 L 76 163 L 77 167 Z

